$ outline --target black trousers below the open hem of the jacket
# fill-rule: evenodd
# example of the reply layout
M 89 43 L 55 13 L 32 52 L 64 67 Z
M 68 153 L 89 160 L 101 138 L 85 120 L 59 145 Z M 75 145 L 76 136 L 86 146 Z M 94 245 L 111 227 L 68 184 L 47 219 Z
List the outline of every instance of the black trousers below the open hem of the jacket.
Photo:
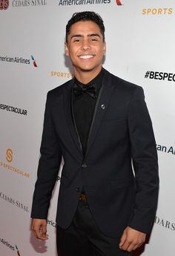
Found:
M 119 249 L 120 237 L 107 237 L 93 219 L 87 203 L 79 201 L 67 229 L 58 226 L 56 245 L 59 256 L 129 256 Z

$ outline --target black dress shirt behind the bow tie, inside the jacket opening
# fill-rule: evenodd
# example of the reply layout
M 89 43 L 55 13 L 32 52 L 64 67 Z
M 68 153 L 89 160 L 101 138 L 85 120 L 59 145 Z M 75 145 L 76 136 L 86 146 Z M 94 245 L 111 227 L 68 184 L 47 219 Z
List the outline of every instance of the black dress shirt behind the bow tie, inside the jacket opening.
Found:
M 87 93 L 82 93 L 79 96 L 75 95 L 74 92 L 72 93 L 73 122 L 74 122 L 74 125 L 76 126 L 75 128 L 78 133 L 79 140 L 82 144 L 82 151 L 84 155 L 85 155 L 86 146 L 87 146 L 88 134 L 90 131 L 90 124 L 93 119 L 93 112 L 96 105 L 96 99 L 99 95 L 99 90 L 102 85 L 103 73 L 104 73 L 104 70 L 102 68 L 99 74 L 93 80 L 88 82 L 86 85 L 83 84 L 82 82 L 79 82 L 76 78 L 74 79 L 74 84 L 79 85 L 82 88 L 88 87 L 92 83 L 94 83 L 96 87 L 95 97 L 92 97 Z

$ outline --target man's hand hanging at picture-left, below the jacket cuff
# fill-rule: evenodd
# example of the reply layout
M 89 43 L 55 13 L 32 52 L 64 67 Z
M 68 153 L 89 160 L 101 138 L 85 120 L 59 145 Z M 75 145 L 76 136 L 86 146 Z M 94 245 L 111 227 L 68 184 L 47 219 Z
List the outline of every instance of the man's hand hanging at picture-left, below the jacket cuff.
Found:
M 41 240 L 47 240 L 47 220 L 40 219 L 32 219 L 31 228 L 33 230 L 33 234 L 35 234 L 36 238 Z

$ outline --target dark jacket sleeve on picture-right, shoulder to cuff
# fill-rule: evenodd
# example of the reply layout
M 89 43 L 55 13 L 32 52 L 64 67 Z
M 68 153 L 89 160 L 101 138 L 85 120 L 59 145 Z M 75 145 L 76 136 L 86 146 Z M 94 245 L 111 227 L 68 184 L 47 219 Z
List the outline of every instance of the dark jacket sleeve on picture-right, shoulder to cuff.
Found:
M 159 191 L 156 142 L 141 87 L 133 93 L 128 111 L 131 157 L 136 177 L 136 199 L 128 226 L 149 233 L 156 214 Z

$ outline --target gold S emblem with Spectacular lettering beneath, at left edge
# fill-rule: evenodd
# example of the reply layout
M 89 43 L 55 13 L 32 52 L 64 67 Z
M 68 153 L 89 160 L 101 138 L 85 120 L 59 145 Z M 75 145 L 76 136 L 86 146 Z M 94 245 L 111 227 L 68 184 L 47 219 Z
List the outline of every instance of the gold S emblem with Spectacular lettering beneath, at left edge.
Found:
M 16 174 L 21 175 L 22 177 L 29 178 L 30 177 L 29 172 L 23 171 L 19 168 L 13 167 L 12 165 L 9 164 L 9 163 L 12 163 L 12 161 L 13 161 L 13 155 L 14 155 L 13 150 L 11 148 L 7 148 L 7 151 L 6 151 L 7 163 L 4 163 L 0 160 L 0 167 L 4 168 L 6 171 L 13 171 Z

